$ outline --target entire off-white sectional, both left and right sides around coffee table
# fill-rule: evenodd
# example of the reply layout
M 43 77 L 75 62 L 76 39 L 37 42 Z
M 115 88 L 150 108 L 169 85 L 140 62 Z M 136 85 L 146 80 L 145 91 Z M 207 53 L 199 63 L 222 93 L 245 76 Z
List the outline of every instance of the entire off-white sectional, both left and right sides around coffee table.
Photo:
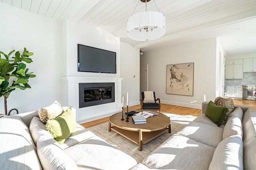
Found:
M 202 103 L 202 112 L 207 104 Z M 253 170 L 255 129 L 256 111 L 252 109 L 235 106 L 220 127 L 201 114 L 137 164 L 80 125 L 60 145 L 34 111 L 0 118 L 0 169 Z

